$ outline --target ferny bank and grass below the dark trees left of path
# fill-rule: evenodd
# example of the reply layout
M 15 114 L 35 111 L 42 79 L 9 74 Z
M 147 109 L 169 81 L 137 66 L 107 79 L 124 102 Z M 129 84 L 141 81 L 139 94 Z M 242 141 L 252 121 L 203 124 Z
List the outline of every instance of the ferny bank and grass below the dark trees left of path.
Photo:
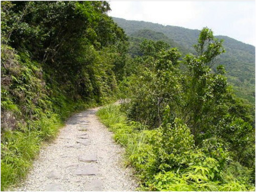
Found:
M 26 177 L 42 142 L 54 139 L 70 115 L 115 98 L 74 99 L 60 89 L 66 84 L 43 72 L 28 53 L 1 47 L 1 190 L 6 190 Z

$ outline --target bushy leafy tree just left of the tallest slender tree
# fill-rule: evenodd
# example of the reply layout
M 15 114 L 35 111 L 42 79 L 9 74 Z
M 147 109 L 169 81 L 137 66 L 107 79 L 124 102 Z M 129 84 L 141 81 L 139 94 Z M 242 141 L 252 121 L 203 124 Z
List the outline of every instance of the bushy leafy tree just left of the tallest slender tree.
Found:
M 176 109 L 175 101 L 181 93 L 181 76 L 179 67 L 180 53 L 177 49 L 165 51 L 162 42 L 144 41 L 142 47 L 157 48 L 153 57 L 147 49 L 145 56 L 138 61 L 137 74 L 129 79 L 131 102 L 126 108 L 128 116 L 135 121 L 146 122 L 150 127 L 162 122 L 164 107 L 168 104 Z M 160 47 L 160 48 L 159 48 Z M 142 86 L 141 86 L 142 85 Z M 173 86 L 176 85 L 176 86 Z

